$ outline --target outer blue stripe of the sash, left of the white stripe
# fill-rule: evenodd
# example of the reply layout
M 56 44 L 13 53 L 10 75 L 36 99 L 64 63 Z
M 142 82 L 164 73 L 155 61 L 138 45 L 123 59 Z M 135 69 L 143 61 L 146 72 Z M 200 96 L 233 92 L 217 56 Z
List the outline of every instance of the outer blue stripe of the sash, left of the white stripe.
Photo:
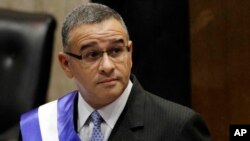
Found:
M 23 141 L 42 141 L 37 111 L 38 109 L 34 109 L 21 116 L 20 128 Z

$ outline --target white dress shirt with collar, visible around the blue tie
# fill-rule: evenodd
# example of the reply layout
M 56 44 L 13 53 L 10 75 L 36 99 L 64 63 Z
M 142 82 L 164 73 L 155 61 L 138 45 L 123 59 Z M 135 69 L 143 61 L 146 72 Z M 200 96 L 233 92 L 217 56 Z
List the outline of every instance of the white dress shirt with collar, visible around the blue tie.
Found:
M 127 88 L 124 90 L 120 97 L 118 97 L 111 104 L 97 110 L 104 120 L 101 124 L 101 131 L 104 135 L 104 141 L 108 140 L 116 121 L 121 115 L 127 103 L 132 85 L 132 82 L 129 81 Z M 91 122 L 89 116 L 95 109 L 93 109 L 82 98 L 80 93 L 78 93 L 78 97 L 77 132 L 82 141 L 89 141 L 93 129 L 93 123 Z

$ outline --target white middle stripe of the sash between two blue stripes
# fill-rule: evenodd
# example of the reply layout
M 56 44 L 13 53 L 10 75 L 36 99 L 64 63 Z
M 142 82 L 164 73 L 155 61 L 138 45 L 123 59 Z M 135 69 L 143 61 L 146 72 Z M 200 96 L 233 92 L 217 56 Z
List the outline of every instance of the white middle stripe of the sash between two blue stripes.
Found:
M 59 141 L 57 130 L 57 101 L 47 103 L 38 109 L 43 141 Z

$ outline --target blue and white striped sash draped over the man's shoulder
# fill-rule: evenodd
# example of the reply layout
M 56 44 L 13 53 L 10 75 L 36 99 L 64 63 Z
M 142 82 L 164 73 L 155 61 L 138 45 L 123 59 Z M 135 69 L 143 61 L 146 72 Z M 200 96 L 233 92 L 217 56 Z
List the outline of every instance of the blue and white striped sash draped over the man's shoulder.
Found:
M 23 141 L 80 141 L 74 129 L 74 99 L 77 91 L 21 116 Z

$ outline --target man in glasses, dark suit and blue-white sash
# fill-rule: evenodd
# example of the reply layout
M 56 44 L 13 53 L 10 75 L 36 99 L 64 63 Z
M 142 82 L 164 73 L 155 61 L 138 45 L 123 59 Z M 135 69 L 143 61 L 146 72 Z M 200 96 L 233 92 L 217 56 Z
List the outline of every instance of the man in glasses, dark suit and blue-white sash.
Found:
M 131 74 L 132 41 L 107 6 L 80 5 L 62 27 L 65 74 L 78 90 L 22 115 L 24 141 L 207 141 L 191 109 L 145 91 Z

